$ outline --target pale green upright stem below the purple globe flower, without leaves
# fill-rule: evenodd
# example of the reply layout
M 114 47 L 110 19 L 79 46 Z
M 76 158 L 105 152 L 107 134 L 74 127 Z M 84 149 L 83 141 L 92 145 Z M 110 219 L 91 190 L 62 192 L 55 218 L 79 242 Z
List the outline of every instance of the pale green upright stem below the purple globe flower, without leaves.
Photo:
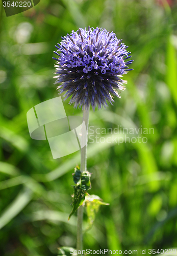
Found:
M 83 111 L 83 120 L 86 125 L 86 132 L 83 130 L 82 132 L 82 143 L 86 144 L 83 148 L 81 148 L 81 172 L 85 172 L 87 170 L 87 131 L 88 131 L 88 120 L 89 120 L 89 109 L 85 109 Z M 82 144 L 81 143 L 81 144 Z M 82 251 L 82 222 L 83 222 L 83 206 L 81 205 L 78 208 L 78 225 L 77 225 L 77 250 Z

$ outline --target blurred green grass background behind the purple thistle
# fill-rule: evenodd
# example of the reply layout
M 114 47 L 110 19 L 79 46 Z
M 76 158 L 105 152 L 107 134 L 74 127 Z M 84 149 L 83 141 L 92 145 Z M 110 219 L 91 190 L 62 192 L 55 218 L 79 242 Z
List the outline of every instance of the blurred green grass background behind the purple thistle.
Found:
M 47 141 L 30 138 L 26 114 L 58 95 L 54 45 L 72 29 L 88 25 L 114 31 L 135 60 L 134 71 L 124 76 L 128 84 L 122 99 L 115 99 L 107 110 L 91 111 L 90 126 L 154 132 L 144 136 L 147 143 L 89 141 L 91 194 L 110 205 L 100 207 L 92 229 L 84 234 L 84 248 L 177 247 L 176 2 L 41 0 L 35 8 L 10 17 L 1 3 L 2 256 L 49 256 L 60 246 L 75 247 L 77 219 L 67 219 L 71 174 L 80 164 L 80 152 L 54 160 Z M 67 115 L 82 115 L 67 103 Z M 86 214 L 84 221 L 87 226 Z

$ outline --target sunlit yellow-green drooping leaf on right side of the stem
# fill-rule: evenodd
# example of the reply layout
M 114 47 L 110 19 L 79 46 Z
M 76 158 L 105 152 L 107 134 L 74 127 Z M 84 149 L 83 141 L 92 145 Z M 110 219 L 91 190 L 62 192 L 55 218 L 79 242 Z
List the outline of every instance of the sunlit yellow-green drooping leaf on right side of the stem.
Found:
M 96 213 L 98 212 L 99 207 L 102 204 L 109 205 L 108 203 L 103 202 L 102 199 L 96 195 L 87 195 L 85 197 L 83 205 L 87 207 L 87 217 L 88 217 L 88 227 L 86 230 L 92 227 L 93 221 L 95 220 L 95 217 L 96 217 Z

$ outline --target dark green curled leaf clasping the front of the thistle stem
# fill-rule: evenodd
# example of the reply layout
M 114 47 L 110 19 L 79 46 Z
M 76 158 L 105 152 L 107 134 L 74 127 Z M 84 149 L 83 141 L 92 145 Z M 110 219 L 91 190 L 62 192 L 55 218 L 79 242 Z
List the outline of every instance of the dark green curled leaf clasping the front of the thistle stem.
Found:
M 79 208 L 79 206 L 83 204 L 85 200 L 85 196 L 87 195 L 86 192 L 88 189 L 91 188 L 90 177 L 91 177 L 91 174 L 87 170 L 86 172 L 81 173 L 79 167 L 78 166 L 75 167 L 73 181 L 77 185 L 73 187 L 74 188 L 74 196 L 73 196 L 73 202 L 72 202 L 73 207 L 68 217 L 68 220 L 74 214 L 74 212 Z

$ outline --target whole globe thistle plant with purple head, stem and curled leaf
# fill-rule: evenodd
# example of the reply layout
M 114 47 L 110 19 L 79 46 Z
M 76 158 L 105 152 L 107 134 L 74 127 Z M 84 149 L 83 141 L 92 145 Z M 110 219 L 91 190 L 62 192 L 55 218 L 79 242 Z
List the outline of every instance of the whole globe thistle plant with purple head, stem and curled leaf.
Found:
M 107 103 L 113 104 L 113 98 L 120 98 L 118 91 L 124 90 L 122 75 L 127 74 L 129 65 L 133 60 L 127 50 L 128 46 L 118 39 L 115 33 L 106 29 L 80 28 L 71 34 L 62 37 L 60 44 L 55 46 L 57 51 L 53 57 L 56 62 L 55 78 L 59 83 L 57 89 L 59 93 L 65 93 L 64 97 L 70 98 L 69 104 L 74 104 L 74 108 L 83 110 L 85 127 L 82 129 L 81 145 L 81 167 L 75 167 L 73 174 L 74 196 L 73 208 L 69 218 L 78 209 L 77 224 L 77 250 L 82 251 L 83 244 L 83 206 L 87 190 L 91 188 L 90 173 L 87 172 L 87 132 L 90 105 L 95 110 L 96 106 L 101 109 L 106 108 Z M 99 197 L 92 195 L 92 201 Z M 89 199 L 87 197 L 87 205 Z M 105 203 L 104 203 L 105 204 Z M 78 208 L 79 207 L 79 208 Z M 68 218 L 68 219 L 69 219 Z

